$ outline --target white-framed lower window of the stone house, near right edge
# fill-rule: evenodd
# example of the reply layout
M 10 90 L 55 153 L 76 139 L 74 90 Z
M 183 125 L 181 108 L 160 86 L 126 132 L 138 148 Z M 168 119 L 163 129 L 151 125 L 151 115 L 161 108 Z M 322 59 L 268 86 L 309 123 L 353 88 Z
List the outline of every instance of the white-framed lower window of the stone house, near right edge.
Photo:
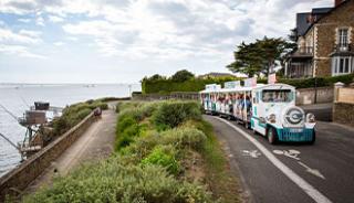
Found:
M 334 56 L 332 58 L 332 75 L 344 75 L 354 72 L 354 57 Z

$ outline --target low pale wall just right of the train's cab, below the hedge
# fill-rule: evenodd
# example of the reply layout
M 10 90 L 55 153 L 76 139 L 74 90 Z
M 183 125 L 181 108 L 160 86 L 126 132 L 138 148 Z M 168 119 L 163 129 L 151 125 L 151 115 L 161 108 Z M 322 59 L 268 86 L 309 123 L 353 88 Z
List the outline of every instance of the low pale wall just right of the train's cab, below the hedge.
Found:
M 333 87 L 317 87 L 296 89 L 296 105 L 314 104 L 315 92 L 317 95 L 316 104 L 333 103 Z

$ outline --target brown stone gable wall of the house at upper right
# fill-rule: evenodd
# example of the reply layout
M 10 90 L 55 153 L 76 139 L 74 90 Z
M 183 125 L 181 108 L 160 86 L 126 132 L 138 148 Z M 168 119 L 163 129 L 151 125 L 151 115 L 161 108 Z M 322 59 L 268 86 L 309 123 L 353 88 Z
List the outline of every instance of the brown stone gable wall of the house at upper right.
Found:
M 340 6 L 330 14 L 323 17 L 311 30 L 315 32 L 315 75 L 331 76 L 331 57 L 330 54 L 334 51 L 337 43 L 337 29 L 350 29 L 350 42 L 354 42 L 354 1 L 348 0 L 345 4 Z M 309 35 L 311 35 L 309 31 Z M 306 34 L 308 35 L 308 34 Z

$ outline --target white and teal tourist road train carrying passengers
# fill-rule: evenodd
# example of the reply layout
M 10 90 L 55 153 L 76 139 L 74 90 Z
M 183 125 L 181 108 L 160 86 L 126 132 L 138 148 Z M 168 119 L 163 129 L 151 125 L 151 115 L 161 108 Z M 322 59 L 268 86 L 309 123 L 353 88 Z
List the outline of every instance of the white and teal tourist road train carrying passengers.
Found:
M 295 106 L 295 88 L 287 84 L 253 84 L 240 82 L 206 85 L 200 101 L 207 114 L 235 119 L 254 133 L 267 137 L 270 143 L 278 141 L 315 141 L 315 118 Z

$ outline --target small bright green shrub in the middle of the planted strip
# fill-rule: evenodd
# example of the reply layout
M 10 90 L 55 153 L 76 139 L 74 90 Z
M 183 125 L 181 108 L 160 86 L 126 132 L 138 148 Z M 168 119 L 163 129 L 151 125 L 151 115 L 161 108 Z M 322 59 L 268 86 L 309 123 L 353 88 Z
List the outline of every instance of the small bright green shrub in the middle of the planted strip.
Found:
M 142 160 L 142 164 L 157 164 L 167 169 L 171 174 L 178 174 L 180 164 L 175 158 L 175 150 L 171 146 L 157 146 L 152 153 Z

